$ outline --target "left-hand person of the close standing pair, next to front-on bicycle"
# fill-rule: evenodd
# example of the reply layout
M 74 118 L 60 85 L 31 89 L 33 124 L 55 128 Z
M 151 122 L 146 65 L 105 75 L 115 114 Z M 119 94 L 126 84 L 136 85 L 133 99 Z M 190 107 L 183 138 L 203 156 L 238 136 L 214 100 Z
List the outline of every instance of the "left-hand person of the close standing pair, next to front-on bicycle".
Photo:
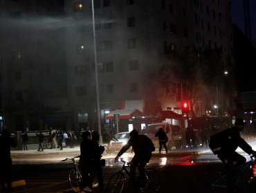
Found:
M 93 141 L 91 140 L 91 132 L 86 130 L 82 133 L 82 142 L 80 144 L 79 167 L 81 169 L 82 181 L 80 183 L 80 193 L 92 192 L 93 177 L 95 176 L 95 168 L 93 167 Z

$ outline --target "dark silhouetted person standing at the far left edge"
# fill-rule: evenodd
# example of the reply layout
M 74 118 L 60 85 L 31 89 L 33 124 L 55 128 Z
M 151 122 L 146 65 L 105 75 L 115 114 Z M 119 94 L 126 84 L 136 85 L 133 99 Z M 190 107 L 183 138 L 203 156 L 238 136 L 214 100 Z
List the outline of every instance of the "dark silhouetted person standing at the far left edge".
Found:
M 12 158 L 10 157 L 10 148 L 15 148 L 16 141 L 10 136 L 8 130 L 3 129 L 0 136 L 0 181 L 1 191 L 14 192 L 11 187 L 12 183 Z M 7 187 L 5 187 L 7 183 Z

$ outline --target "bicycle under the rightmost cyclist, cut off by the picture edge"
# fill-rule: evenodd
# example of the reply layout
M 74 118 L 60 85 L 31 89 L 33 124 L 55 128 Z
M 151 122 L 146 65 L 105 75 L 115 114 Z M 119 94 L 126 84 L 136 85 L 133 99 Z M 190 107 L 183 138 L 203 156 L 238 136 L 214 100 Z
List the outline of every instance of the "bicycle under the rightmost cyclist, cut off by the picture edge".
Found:
M 235 187 L 237 192 L 248 192 L 250 189 L 256 190 L 256 161 L 254 156 L 250 156 L 250 161 L 246 161 L 244 165 L 235 168 Z M 219 170 L 210 170 L 203 173 L 199 178 L 197 190 L 199 193 L 211 192 L 227 192 L 226 172 Z

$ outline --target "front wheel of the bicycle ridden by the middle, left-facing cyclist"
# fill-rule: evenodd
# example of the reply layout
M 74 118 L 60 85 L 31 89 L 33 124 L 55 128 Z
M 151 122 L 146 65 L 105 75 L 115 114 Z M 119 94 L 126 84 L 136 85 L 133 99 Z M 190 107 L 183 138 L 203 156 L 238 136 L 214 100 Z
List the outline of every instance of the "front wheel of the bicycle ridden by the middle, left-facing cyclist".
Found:
M 116 172 L 113 174 L 109 182 L 107 183 L 107 192 L 108 193 L 120 193 L 122 192 L 125 186 L 125 176 L 122 172 Z

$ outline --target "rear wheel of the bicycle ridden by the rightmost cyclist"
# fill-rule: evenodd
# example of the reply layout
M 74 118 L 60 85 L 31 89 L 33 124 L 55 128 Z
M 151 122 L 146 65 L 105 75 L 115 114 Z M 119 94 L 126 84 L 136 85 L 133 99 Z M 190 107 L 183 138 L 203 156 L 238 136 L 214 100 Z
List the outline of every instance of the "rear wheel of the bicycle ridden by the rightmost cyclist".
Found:
M 218 170 L 203 173 L 197 182 L 199 193 L 224 193 L 227 192 L 226 177 Z

